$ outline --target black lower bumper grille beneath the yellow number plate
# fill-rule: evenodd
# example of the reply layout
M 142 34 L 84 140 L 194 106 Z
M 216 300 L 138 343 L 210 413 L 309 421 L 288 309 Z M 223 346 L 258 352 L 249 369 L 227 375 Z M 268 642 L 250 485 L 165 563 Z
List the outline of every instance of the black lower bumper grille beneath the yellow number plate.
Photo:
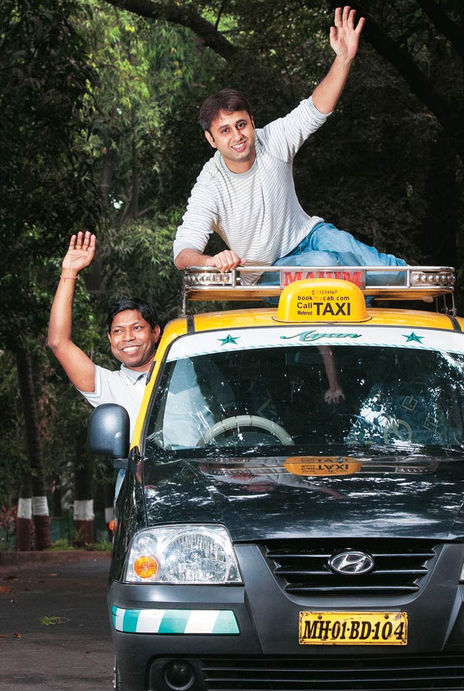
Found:
M 464 657 L 260 657 L 200 660 L 206 691 L 425 691 L 464 689 Z

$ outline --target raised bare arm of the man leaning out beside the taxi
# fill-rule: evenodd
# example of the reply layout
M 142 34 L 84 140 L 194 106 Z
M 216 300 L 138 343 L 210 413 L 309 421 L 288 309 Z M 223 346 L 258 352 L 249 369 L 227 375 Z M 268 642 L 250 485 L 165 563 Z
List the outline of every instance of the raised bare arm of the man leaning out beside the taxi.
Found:
M 76 279 L 95 256 L 96 237 L 89 232 L 71 237 L 64 257 L 60 282 L 51 305 L 47 345 L 54 352 L 74 386 L 81 391 L 95 389 L 95 366 L 72 341 L 73 299 Z

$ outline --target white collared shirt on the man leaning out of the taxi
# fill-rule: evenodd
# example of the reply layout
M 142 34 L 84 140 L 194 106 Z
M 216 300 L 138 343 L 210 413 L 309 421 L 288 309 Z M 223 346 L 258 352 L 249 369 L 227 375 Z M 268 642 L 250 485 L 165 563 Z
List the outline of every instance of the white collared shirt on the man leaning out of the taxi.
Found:
M 146 386 L 148 372 L 136 372 L 125 364 L 116 372 L 95 365 L 95 389 L 80 391 L 94 408 L 102 403 L 118 403 L 126 408 L 131 421 L 131 437 Z

